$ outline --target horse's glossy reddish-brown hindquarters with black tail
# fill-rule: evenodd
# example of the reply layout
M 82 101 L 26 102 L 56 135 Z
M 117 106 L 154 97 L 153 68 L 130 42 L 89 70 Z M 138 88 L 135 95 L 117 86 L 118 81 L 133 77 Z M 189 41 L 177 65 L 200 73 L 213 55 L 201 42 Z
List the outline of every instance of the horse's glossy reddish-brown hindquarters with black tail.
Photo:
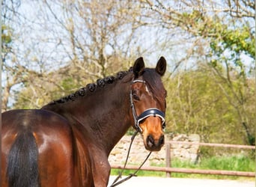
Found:
M 30 178 L 37 185 L 29 181 L 22 186 L 82 186 L 76 138 L 64 117 L 45 110 L 13 110 L 4 112 L 1 120 L 1 186 L 20 186 L 31 165 L 37 176 Z

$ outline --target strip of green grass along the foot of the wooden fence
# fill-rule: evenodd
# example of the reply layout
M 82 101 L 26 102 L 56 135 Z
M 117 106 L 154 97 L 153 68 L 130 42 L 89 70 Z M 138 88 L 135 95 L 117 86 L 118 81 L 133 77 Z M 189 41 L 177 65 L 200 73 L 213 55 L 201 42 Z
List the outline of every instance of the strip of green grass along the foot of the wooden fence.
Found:
M 255 172 L 256 162 L 247 156 L 222 156 L 222 157 L 211 157 L 208 159 L 202 159 L 200 163 L 193 164 L 192 162 L 180 161 L 179 159 L 171 160 L 172 168 L 196 168 L 196 169 L 210 169 L 210 170 L 227 170 L 227 171 L 252 171 Z M 164 163 L 161 165 L 154 166 L 165 166 Z M 120 170 L 112 169 L 112 175 L 118 175 Z M 132 174 L 134 171 L 125 170 L 123 175 Z M 138 171 L 138 176 L 147 177 L 165 177 L 165 172 L 159 171 Z M 225 175 L 209 175 L 209 174 L 182 174 L 182 173 L 171 173 L 171 177 L 186 177 L 186 178 L 208 178 L 208 179 L 229 179 L 229 180 L 249 180 L 253 177 L 236 177 L 236 176 L 225 176 Z

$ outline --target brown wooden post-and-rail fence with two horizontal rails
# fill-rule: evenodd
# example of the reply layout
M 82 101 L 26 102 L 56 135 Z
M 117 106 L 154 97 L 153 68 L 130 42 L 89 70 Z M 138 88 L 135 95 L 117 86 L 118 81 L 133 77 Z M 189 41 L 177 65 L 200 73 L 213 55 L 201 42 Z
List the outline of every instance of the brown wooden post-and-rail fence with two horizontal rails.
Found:
M 156 166 L 143 166 L 141 170 L 143 171 L 162 171 L 166 173 L 167 177 L 171 176 L 171 172 L 183 173 L 183 174 L 212 174 L 212 175 L 227 175 L 227 176 L 237 176 L 237 177 L 255 177 L 255 172 L 249 171 L 221 171 L 221 170 L 202 170 L 202 169 L 189 169 L 189 168 L 171 168 L 171 144 L 198 144 L 199 146 L 208 147 L 228 147 L 235 149 L 250 149 L 255 150 L 255 146 L 249 145 L 237 145 L 237 144 L 213 144 L 213 143 L 200 143 L 200 142 L 187 142 L 187 141 L 166 141 L 166 167 L 156 167 Z M 122 169 L 121 165 L 111 165 L 112 168 Z M 128 170 L 136 170 L 138 166 L 127 165 Z

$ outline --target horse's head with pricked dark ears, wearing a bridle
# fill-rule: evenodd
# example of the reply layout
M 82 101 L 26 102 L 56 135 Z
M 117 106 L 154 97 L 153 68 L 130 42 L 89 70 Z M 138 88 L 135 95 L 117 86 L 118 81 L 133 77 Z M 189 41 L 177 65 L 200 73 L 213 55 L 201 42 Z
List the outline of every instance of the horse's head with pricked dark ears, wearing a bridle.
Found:
M 141 132 L 144 147 L 159 151 L 165 143 L 166 91 L 161 77 L 165 74 L 166 61 L 161 57 L 156 68 L 145 68 L 143 58 L 133 65 L 133 79 L 130 91 L 134 128 Z

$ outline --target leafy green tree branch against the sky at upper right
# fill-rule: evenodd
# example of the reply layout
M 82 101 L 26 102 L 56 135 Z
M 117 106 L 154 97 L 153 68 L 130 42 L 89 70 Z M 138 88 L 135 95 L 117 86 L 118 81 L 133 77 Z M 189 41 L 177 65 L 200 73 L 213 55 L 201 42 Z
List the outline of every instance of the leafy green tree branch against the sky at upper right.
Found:
M 244 52 L 255 58 L 255 31 L 251 30 L 247 22 L 231 27 L 234 24 L 232 19 L 227 20 L 231 23 L 227 24 L 218 16 L 203 16 L 198 10 L 182 15 L 183 21 L 196 29 L 193 34 L 210 39 L 210 47 L 217 55 L 222 55 L 225 49 L 229 49 L 234 54 Z

